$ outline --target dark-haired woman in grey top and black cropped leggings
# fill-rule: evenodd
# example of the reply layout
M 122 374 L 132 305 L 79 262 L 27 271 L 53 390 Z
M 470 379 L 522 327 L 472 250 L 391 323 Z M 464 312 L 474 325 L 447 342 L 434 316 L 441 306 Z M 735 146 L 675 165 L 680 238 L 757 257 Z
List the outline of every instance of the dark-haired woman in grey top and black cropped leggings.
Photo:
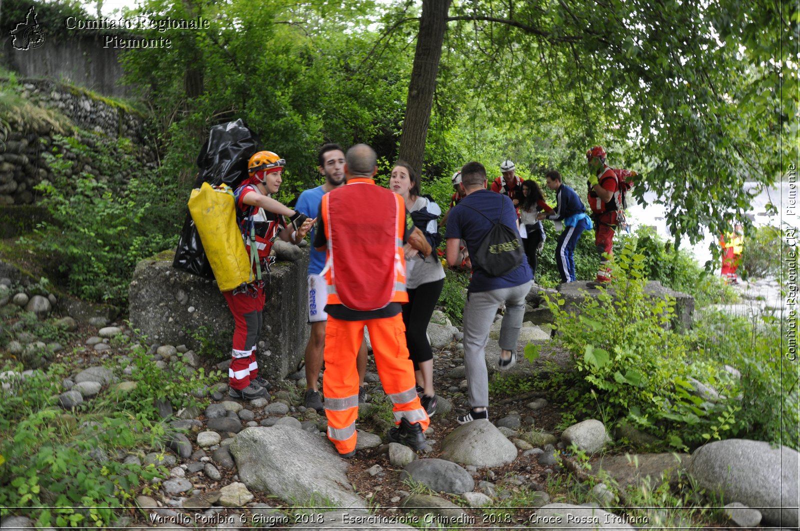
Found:
M 422 407 L 430 416 L 436 413 L 436 394 L 434 353 L 428 342 L 427 328 L 445 283 L 445 270 L 436 253 L 441 240 L 438 218 L 442 215 L 442 210 L 433 198 L 420 194 L 419 179 L 406 162 L 398 161 L 394 165 L 389 188 L 402 196 L 414 226 L 422 230 L 430 244 L 430 251 L 427 252 L 413 249 L 408 244 L 404 247 L 408 302 L 402 308 L 402 320 L 406 324 L 406 343 L 417 377 L 417 392 L 422 393 Z

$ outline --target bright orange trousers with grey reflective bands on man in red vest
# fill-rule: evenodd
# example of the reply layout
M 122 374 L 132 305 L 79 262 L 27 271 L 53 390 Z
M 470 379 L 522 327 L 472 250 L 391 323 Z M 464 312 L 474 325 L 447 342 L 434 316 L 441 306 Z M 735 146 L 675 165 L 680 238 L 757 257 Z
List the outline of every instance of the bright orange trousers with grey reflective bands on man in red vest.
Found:
M 383 390 L 394 404 L 394 423 L 402 417 L 428 429 L 430 419 L 417 396 L 414 364 L 406 347 L 406 326 L 402 315 L 366 321 L 342 321 L 328 315 L 325 328 L 325 373 L 322 393 L 328 417 L 328 438 L 338 453 L 355 449 L 355 420 L 358 417 L 358 370 L 356 356 L 364 337 L 364 326 L 370 331 L 378 376 Z

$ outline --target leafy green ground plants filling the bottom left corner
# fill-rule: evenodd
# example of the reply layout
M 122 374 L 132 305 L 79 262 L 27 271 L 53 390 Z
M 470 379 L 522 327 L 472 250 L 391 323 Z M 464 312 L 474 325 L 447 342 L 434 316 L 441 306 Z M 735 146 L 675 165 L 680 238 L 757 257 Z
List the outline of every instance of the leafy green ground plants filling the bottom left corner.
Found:
M 62 413 L 55 404 L 57 373 L 36 371 L 2 392 L 0 514 L 10 514 L 6 507 L 27 508 L 38 526 L 104 527 L 113 509 L 130 505 L 132 489 L 157 470 L 99 456 L 153 445 L 158 431 L 145 416 Z

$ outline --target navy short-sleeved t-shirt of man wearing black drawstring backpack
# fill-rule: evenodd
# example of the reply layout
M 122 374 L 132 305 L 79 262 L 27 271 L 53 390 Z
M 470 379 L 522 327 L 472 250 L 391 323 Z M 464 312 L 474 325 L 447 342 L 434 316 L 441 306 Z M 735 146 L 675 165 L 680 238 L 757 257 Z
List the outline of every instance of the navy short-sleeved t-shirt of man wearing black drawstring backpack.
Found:
M 502 223 L 517 230 L 517 211 L 511 200 L 500 194 L 495 194 L 490 190 L 478 190 L 463 198 L 458 205 L 450 210 L 450 217 L 447 218 L 447 230 L 445 238 L 461 238 L 466 240 L 466 249 L 470 252 L 470 257 L 474 260 L 473 251 L 478 248 L 478 244 L 483 237 L 491 230 L 493 223 L 500 217 L 502 206 Z M 472 207 L 472 208 L 469 208 Z M 486 216 L 486 219 L 478 212 Z M 491 222 L 489 220 L 492 220 Z M 475 264 L 476 262 L 473 262 Z M 474 269 L 470 280 L 470 291 L 490 291 L 492 289 L 513 288 L 515 285 L 525 284 L 532 280 L 534 273 L 531 272 L 527 260 L 522 260 L 522 264 L 517 268 L 506 273 L 502 277 L 490 277 L 482 269 Z

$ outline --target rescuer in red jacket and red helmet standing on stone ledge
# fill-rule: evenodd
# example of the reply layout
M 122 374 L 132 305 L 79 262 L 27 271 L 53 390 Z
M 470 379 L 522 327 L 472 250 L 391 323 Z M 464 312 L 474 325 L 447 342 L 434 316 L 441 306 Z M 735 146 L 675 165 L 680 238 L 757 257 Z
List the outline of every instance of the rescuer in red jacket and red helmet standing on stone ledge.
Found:
M 622 209 L 622 198 L 617 174 L 606 164 L 606 151 L 601 146 L 586 151 L 586 163 L 590 172 L 586 198 L 594 221 L 594 246 L 600 256 L 597 279 L 587 287 L 597 287 L 611 280 L 614 234 L 617 231 L 618 211 Z

